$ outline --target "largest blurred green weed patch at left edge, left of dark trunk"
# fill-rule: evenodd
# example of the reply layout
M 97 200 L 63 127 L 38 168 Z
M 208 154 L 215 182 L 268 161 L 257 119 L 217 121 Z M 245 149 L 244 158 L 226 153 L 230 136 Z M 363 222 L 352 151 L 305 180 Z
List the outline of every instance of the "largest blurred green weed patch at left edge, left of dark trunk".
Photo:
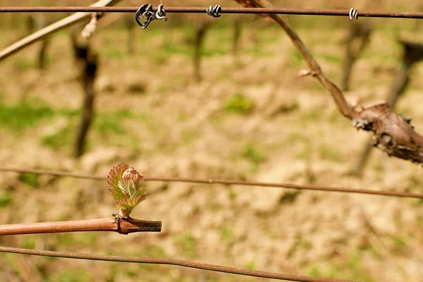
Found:
M 20 131 L 53 116 L 54 111 L 46 105 L 26 101 L 8 105 L 0 101 L 0 128 Z

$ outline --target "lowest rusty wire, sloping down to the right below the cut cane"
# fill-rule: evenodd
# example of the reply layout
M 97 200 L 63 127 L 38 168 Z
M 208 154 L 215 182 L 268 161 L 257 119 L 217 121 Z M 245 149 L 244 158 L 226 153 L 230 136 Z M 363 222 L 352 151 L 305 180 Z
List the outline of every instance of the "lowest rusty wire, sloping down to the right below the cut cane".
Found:
M 149 257 L 120 257 L 120 256 L 111 256 L 111 255 L 89 255 L 89 254 L 80 254 L 77 252 L 31 250 L 31 249 L 23 249 L 18 247 L 3 247 L 3 246 L 0 246 L 0 252 L 13 252 L 15 254 L 38 255 L 38 256 L 45 256 L 45 257 L 63 257 L 68 259 L 90 259 L 90 260 L 99 260 L 99 261 L 106 261 L 106 262 L 133 262 L 138 264 L 168 264 L 168 265 L 190 267 L 192 269 L 203 269 L 203 270 L 209 270 L 209 271 L 223 272 L 226 274 L 239 274 L 239 275 L 245 275 L 245 276 L 279 279 L 279 280 L 285 280 L 285 281 L 353 282 L 348 280 L 338 280 L 338 279 L 332 279 L 332 278 L 317 278 L 317 277 L 300 276 L 300 275 L 292 275 L 292 274 L 278 274 L 276 272 L 236 269 L 234 267 L 220 266 L 215 264 L 202 264 L 199 262 L 188 262 L 181 259 L 156 259 L 156 258 L 149 258 Z

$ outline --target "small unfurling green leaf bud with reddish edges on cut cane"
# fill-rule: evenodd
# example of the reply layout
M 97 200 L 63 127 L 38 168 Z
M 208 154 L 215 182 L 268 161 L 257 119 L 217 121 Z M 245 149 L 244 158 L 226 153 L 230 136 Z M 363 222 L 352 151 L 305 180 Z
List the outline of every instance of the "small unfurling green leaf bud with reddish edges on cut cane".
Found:
M 148 194 L 145 194 L 145 189 L 142 188 L 143 182 L 144 176 L 128 164 L 114 166 L 107 176 L 109 190 L 117 202 L 115 207 L 123 218 L 128 218 L 133 208 L 147 197 Z

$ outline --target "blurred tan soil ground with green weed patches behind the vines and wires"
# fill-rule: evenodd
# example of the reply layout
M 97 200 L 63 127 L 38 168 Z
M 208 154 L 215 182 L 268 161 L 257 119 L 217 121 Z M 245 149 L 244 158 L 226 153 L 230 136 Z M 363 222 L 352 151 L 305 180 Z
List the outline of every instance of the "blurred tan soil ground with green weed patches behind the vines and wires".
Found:
M 231 1 L 164 6 L 236 6 Z M 273 1 L 287 8 L 423 11 L 417 1 Z M 2 6 L 86 6 L 90 1 L 2 1 Z M 140 6 L 121 1 L 122 6 Z M 158 1 L 152 3 L 159 4 Z M 0 15 L 1 48 L 28 34 L 29 14 Z M 39 15 L 35 15 L 37 18 Z M 59 20 L 64 13 L 44 15 Z M 97 53 L 95 116 L 73 157 L 84 90 L 71 31 L 0 63 L 0 165 L 106 176 L 125 162 L 145 176 L 312 183 L 422 192 L 422 168 L 375 150 L 352 171 L 369 133 L 338 113 L 280 27 L 257 16 L 168 14 L 147 30 L 110 14 L 91 42 Z M 340 83 L 345 17 L 289 16 L 325 73 Z M 419 20 L 369 19 L 348 99 L 386 99 L 400 68 L 398 37 L 423 43 Z M 102 28 L 102 25 L 107 25 Z M 207 26 L 195 72 L 195 35 Z M 238 26 L 238 27 L 237 27 Z M 237 29 L 238 28 L 238 29 Z M 239 42 L 233 37 L 238 30 Z M 130 40 L 133 38 L 133 41 Z M 234 51 L 235 50 L 235 51 Z M 423 64 L 412 67 L 396 111 L 423 132 Z M 0 174 L 2 223 L 90 219 L 116 212 L 106 182 Z M 423 202 L 369 195 L 186 183 L 145 183 L 133 212 L 161 233 L 3 236 L 1 245 L 96 254 L 171 257 L 238 268 L 357 281 L 423 281 Z M 0 255 L 1 281 L 262 281 L 175 266 Z M 264 280 L 263 280 L 264 281 Z

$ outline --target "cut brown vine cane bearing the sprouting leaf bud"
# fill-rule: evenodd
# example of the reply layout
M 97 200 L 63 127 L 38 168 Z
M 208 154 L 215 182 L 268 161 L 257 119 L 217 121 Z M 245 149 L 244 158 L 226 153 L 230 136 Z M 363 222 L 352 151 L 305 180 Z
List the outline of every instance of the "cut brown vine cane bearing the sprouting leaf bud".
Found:
M 54 221 L 0 225 L 0 235 L 62 233 L 81 231 L 114 231 L 120 234 L 160 232 L 161 221 L 121 219 L 119 216 L 80 221 Z

